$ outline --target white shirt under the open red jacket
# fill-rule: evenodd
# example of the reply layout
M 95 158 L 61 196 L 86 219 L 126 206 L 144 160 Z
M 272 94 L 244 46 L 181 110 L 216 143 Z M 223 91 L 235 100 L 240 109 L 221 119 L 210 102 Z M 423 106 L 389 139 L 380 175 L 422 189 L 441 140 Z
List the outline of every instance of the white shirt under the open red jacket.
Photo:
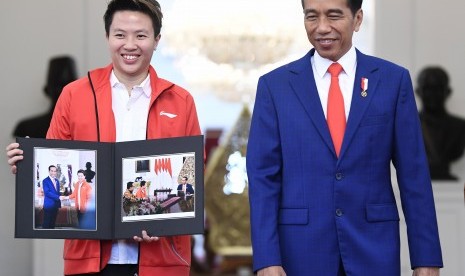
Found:
M 112 109 L 115 115 L 116 142 L 145 140 L 149 113 L 150 75 L 127 91 L 114 72 L 110 76 Z M 137 264 L 139 244 L 134 240 L 118 240 L 111 248 L 110 264 Z

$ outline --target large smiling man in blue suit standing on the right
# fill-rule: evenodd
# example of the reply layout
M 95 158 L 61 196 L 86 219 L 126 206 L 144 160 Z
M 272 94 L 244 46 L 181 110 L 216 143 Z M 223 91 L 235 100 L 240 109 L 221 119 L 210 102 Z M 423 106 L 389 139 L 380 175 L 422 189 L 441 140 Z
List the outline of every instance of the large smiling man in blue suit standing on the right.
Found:
M 303 0 L 314 49 L 259 79 L 247 149 L 258 275 L 400 275 L 391 162 L 414 275 L 443 265 L 410 75 L 354 48 L 361 5 Z M 326 120 L 333 63 L 342 66 L 340 147 Z

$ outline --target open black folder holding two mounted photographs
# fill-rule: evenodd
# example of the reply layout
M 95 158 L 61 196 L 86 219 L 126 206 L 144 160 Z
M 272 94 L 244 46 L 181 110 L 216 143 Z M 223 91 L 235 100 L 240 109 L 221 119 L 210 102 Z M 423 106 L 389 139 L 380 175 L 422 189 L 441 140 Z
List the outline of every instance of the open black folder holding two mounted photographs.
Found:
M 18 138 L 17 238 L 204 231 L 203 136 L 99 143 Z M 135 169 L 134 169 L 135 168 Z M 183 180 L 184 179 L 184 180 Z M 188 182 L 188 193 L 180 193 Z

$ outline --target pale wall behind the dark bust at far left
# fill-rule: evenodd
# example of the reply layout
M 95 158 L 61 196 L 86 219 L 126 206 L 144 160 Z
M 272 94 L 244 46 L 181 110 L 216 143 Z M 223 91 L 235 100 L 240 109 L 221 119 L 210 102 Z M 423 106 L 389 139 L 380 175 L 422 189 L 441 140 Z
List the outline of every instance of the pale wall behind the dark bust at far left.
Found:
M 0 8 L 0 144 L 13 141 L 20 119 L 46 112 L 43 93 L 50 57 L 75 58 L 79 75 L 108 62 L 103 0 L 7 1 Z M 5 159 L 3 159 L 5 160 Z M 61 275 L 62 241 L 14 239 L 14 177 L 0 166 L 0 275 Z

